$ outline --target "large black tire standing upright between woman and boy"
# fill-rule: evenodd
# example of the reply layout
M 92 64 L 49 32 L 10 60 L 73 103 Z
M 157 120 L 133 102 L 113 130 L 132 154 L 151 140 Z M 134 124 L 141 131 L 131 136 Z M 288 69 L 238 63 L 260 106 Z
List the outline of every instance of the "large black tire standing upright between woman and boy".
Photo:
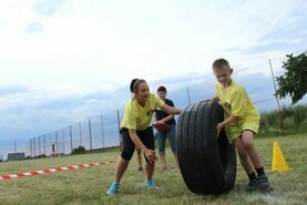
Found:
M 183 180 L 195 194 L 229 192 L 236 178 L 236 152 L 225 131 L 216 137 L 224 119 L 217 102 L 190 105 L 178 117 L 177 157 Z

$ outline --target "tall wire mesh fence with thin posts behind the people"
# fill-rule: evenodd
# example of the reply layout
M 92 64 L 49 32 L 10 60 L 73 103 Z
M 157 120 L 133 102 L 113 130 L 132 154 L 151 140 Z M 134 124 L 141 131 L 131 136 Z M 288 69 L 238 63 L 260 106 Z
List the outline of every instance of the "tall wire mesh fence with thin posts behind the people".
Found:
M 290 105 L 289 99 L 280 100 L 276 98 L 273 84 L 275 76 L 284 73 L 282 69 L 283 61 L 285 61 L 284 58 L 273 61 L 273 70 L 270 70 L 268 61 L 252 66 L 234 66 L 233 78 L 246 88 L 250 99 L 260 111 L 278 110 L 276 100 L 279 101 L 282 106 Z M 151 88 L 157 88 L 160 84 L 166 85 L 168 98 L 174 101 L 175 106 L 184 109 L 190 103 L 199 102 L 212 96 L 215 78 L 213 74 L 198 74 L 185 79 L 163 80 L 152 83 Z M 259 91 L 259 89 L 262 90 Z M 121 143 L 119 126 L 122 114 L 123 109 L 114 110 L 108 114 L 92 116 L 86 121 L 31 137 L 28 142 L 17 143 L 12 141 L 2 144 L 0 145 L 0 160 L 1 153 L 3 158 L 1 146 L 14 153 L 24 152 L 25 155 L 31 157 L 70 154 L 78 146 L 84 146 L 86 151 L 119 146 Z

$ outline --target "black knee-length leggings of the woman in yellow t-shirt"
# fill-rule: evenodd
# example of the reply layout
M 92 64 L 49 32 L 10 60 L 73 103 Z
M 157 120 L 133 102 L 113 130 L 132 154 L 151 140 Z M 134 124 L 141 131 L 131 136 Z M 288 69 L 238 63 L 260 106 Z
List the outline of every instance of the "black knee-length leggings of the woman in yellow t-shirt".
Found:
M 153 127 L 149 126 L 144 131 L 136 131 L 136 134 L 141 142 L 150 150 L 155 150 L 154 145 L 154 133 L 153 133 Z M 129 135 L 129 130 L 127 129 L 121 129 L 121 136 L 123 141 L 123 151 L 121 153 L 122 158 L 130 161 L 133 156 L 134 150 L 135 150 L 135 144 L 132 142 L 130 135 Z M 144 155 L 145 156 L 145 155 Z M 146 156 L 145 156 L 146 162 L 150 162 Z

